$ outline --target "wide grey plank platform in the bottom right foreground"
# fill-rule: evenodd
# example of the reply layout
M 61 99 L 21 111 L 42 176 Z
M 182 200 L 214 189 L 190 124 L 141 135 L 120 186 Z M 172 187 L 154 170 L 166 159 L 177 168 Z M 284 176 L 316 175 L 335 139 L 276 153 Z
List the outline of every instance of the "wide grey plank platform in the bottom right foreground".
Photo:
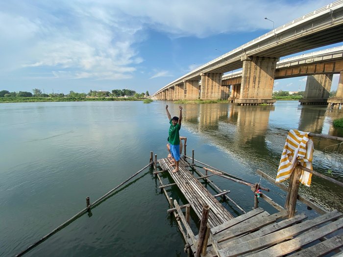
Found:
M 343 214 L 339 211 L 309 220 L 304 213 L 284 219 L 286 216 L 286 211 L 269 214 L 257 208 L 214 227 L 211 232 L 217 243 L 215 249 L 208 245 L 205 256 L 316 257 L 343 247 Z M 188 242 L 195 253 L 192 241 Z M 311 246 L 304 248 L 308 244 Z

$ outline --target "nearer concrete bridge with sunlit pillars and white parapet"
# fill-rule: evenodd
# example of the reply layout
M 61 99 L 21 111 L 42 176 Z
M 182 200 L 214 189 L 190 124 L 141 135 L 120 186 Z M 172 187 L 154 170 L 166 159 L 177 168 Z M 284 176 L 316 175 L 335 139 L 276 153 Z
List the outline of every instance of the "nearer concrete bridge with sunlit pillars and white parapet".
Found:
M 281 76 L 275 73 L 280 57 L 342 41 L 343 0 L 339 0 L 284 24 L 192 70 L 154 93 L 153 97 L 163 100 L 227 99 L 230 85 L 238 83 L 222 85 L 223 73 L 243 68 L 240 88 L 236 91 L 234 86 L 232 88 L 233 93 L 236 92 L 236 96 L 231 92 L 231 96 L 235 97 L 234 102 L 272 104 L 275 102 L 272 99 L 274 79 Z M 338 69 L 343 70 L 343 68 L 336 70 Z M 286 74 L 289 76 L 287 72 Z M 299 76 L 303 75 L 299 73 Z M 320 74 L 313 74 L 313 76 L 317 75 Z M 342 79 L 341 76 L 340 82 Z M 340 85 L 342 87 L 342 83 Z M 343 88 L 338 89 L 338 93 L 341 91 L 343 97 Z

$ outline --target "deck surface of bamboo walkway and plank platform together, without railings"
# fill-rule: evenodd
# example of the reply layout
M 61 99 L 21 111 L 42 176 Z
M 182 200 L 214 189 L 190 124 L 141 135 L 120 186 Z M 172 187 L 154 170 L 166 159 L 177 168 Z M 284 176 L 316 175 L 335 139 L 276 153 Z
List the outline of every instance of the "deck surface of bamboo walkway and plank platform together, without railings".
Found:
M 287 210 L 270 214 L 256 208 L 236 218 L 196 179 L 185 160 L 180 159 L 179 171 L 172 173 L 167 158 L 158 160 L 184 194 L 196 215 L 201 219 L 204 205 L 208 205 L 209 239 L 203 257 L 230 256 L 304 256 L 329 254 L 343 256 L 343 214 L 337 210 L 308 219 L 304 214 L 288 217 Z M 179 217 L 187 231 L 186 248 L 196 256 L 199 235 L 193 234 L 180 206 L 174 201 L 175 217 Z M 181 225 L 180 221 L 178 221 Z M 310 246 L 309 246 L 310 245 Z M 189 253 L 190 253 L 189 252 Z

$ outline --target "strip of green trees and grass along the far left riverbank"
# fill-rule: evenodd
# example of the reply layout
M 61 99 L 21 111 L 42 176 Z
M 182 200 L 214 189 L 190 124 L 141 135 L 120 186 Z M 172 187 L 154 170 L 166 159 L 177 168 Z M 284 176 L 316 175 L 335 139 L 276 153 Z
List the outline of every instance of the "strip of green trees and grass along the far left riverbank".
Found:
M 33 93 L 33 94 L 32 94 Z M 141 101 L 147 99 L 149 92 L 136 93 L 129 89 L 115 89 L 112 93 L 109 91 L 90 91 L 89 93 L 76 93 L 70 91 L 64 93 L 42 93 L 40 89 L 33 89 L 30 92 L 9 92 L 8 90 L 0 91 L 0 103 L 13 102 L 69 102 L 69 101 Z

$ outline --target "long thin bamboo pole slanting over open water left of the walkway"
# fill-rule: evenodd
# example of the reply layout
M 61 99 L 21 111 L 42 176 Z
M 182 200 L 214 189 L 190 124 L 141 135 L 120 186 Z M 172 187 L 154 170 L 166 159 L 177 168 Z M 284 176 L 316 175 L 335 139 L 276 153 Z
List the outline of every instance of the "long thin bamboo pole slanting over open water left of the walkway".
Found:
M 33 249 L 34 247 L 36 247 L 37 245 L 39 245 L 40 243 L 44 242 L 45 240 L 47 240 L 51 235 L 55 234 L 56 232 L 60 231 L 61 229 L 63 229 L 65 226 L 67 226 L 69 223 L 71 223 L 74 219 L 76 219 L 77 217 L 79 217 L 81 214 L 85 213 L 87 210 L 90 210 L 92 208 L 92 206 L 96 205 L 97 203 L 99 203 L 101 200 L 103 200 L 106 196 L 108 196 L 109 194 L 111 194 L 114 190 L 116 190 L 118 187 L 123 186 L 123 184 L 125 184 L 127 181 L 129 181 L 130 179 L 132 179 L 134 176 L 136 176 L 137 174 L 139 174 L 140 172 L 142 172 L 143 170 L 145 170 L 148 166 L 150 166 L 151 164 L 153 164 L 153 162 L 150 162 L 149 164 L 147 164 L 145 167 L 143 167 L 142 169 L 140 169 L 139 171 L 137 171 L 135 174 L 133 174 L 131 177 L 129 177 L 128 179 L 126 179 L 124 182 L 122 182 L 121 184 L 119 184 L 117 187 L 113 188 L 112 190 L 110 190 L 109 192 L 107 192 L 106 194 L 104 194 L 103 196 L 101 196 L 98 200 L 96 200 L 94 203 L 89 205 L 89 208 L 86 207 L 83 210 L 80 210 L 78 213 L 76 213 L 73 217 L 71 217 L 69 220 L 67 220 L 66 222 L 62 223 L 61 225 L 59 225 L 57 228 L 55 228 L 54 230 L 52 230 L 49 234 L 46 234 L 45 236 L 43 236 L 41 239 L 39 239 L 37 242 L 31 244 L 29 247 L 27 247 L 24 251 L 22 251 L 21 253 L 19 253 L 17 256 L 23 256 L 25 253 L 27 253 L 28 251 L 30 251 L 31 249 Z

